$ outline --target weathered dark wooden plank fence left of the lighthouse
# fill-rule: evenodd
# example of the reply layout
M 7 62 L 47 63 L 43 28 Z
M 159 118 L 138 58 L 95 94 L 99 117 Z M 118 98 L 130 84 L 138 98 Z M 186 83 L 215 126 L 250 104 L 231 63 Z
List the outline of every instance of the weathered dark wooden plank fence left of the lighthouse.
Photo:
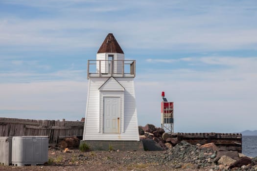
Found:
M 0 118 L 0 136 L 48 136 L 49 144 L 77 136 L 82 139 L 84 122 Z

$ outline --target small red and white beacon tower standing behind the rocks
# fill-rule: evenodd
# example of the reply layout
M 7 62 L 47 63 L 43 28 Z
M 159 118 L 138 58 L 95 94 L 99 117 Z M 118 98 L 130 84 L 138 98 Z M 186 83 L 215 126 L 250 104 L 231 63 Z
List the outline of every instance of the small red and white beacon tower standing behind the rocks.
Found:
M 174 118 L 173 118 L 173 102 L 168 102 L 168 100 L 165 98 L 164 91 L 162 92 L 162 103 L 161 103 L 161 126 L 167 133 L 173 133 L 174 132 Z

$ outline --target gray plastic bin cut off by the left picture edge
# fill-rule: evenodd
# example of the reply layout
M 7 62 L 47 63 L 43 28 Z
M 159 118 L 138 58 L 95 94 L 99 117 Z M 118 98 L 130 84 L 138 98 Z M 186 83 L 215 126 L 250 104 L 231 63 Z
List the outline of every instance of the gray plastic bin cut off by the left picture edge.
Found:
M 12 164 L 12 137 L 0 137 L 0 164 Z

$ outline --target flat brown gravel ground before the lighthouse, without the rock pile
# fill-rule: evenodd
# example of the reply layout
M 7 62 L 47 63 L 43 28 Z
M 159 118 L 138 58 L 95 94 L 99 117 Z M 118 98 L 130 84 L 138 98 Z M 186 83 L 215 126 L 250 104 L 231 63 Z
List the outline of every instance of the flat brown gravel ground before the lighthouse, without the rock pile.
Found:
M 1 171 L 172 171 L 200 170 L 194 166 L 175 169 L 166 162 L 166 151 L 90 151 L 49 150 L 49 162 L 43 166 L 0 166 Z M 208 169 L 202 168 L 202 171 Z

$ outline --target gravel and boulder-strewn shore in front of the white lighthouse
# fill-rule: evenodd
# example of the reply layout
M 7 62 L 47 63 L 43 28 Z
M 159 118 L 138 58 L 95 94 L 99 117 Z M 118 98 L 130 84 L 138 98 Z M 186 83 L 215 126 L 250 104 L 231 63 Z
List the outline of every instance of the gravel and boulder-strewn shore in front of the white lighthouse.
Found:
M 164 130 L 147 124 L 139 127 L 140 139 L 154 141 L 159 151 L 78 150 L 79 140 L 67 138 L 48 150 L 43 166 L 0 166 L 1 171 L 257 171 L 257 157 L 218 148 L 213 143 L 178 142 Z M 72 149 L 73 148 L 73 149 Z

